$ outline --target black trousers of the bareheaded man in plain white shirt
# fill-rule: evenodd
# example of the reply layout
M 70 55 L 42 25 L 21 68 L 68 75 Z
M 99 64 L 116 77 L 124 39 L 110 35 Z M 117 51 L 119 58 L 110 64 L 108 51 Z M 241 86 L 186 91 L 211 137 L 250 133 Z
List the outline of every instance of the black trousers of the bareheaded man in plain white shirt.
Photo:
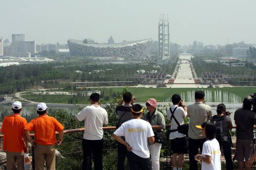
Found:
M 92 154 L 94 160 L 94 169 L 102 170 L 102 149 L 103 138 L 100 140 L 82 139 L 83 162 L 82 170 L 92 169 Z

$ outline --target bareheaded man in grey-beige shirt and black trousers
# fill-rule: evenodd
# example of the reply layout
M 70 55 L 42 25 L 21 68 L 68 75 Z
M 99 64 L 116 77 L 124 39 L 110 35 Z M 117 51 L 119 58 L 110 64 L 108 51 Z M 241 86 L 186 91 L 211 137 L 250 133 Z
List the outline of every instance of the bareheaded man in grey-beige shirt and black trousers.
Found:
M 201 130 L 196 128 L 196 126 L 201 126 L 204 122 L 208 122 L 212 117 L 212 111 L 210 106 L 203 104 L 203 91 L 199 90 L 195 92 L 195 101 L 196 103 L 187 107 L 187 116 L 189 117 L 189 170 L 198 169 L 195 155 L 198 154 L 198 148 L 200 148 L 200 151 L 202 152 L 203 143 L 205 142 L 205 137 L 202 135 Z

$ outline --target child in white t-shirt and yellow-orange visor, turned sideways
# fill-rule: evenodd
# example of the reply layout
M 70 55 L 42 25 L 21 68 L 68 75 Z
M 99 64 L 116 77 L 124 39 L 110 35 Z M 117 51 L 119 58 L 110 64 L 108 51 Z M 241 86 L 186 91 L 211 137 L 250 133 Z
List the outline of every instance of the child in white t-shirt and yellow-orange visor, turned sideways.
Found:
M 221 151 L 220 144 L 215 138 L 216 126 L 207 122 L 196 127 L 202 129 L 202 135 L 206 137 L 206 141 L 203 144 L 202 155 L 195 155 L 195 160 L 202 161 L 201 170 L 220 170 Z

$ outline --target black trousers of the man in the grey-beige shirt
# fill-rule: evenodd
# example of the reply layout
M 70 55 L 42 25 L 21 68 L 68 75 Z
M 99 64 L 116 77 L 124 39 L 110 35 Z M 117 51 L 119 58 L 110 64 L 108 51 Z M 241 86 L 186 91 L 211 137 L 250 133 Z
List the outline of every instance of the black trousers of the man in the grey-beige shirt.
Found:
M 198 154 L 198 148 L 202 153 L 203 143 L 205 139 L 188 139 L 188 156 L 189 156 L 189 170 L 197 170 L 197 161 L 195 160 L 195 155 Z

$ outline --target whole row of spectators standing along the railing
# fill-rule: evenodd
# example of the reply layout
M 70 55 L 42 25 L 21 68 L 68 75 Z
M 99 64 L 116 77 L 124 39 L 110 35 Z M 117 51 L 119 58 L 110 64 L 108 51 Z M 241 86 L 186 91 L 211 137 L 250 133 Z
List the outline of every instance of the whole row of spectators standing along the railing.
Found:
M 189 106 L 179 94 L 172 96 L 173 105 L 167 109 L 167 119 L 170 121 L 169 136 L 172 151 L 172 169 L 183 168 L 184 154 L 189 156 L 189 170 L 221 169 L 221 149 L 226 160 L 226 169 L 233 169 L 231 157 L 232 129 L 230 113 L 224 104 L 217 106 L 217 115 L 212 116 L 211 107 L 204 104 L 204 92 L 195 92 L 195 103 Z M 103 126 L 108 125 L 108 114 L 99 105 L 100 95 L 90 96 L 91 106 L 82 109 L 76 118 L 84 122 L 82 138 L 83 162 L 82 169 L 103 169 Z M 251 96 L 246 96 L 243 107 L 234 113 L 236 129 L 236 157 L 239 169 L 249 169 L 256 158 L 253 153 L 253 125 L 256 123 Z M 127 158 L 128 169 L 159 170 L 159 157 L 164 143 L 164 115 L 157 110 L 157 101 L 153 98 L 143 107 L 135 104 L 135 96 L 131 92 L 123 93 L 123 98 L 116 107 L 118 124 L 112 137 L 117 141 L 117 169 L 124 169 Z M 36 107 L 38 117 L 30 123 L 20 116 L 22 103 L 12 103 L 12 115 L 4 118 L 1 132 L 4 134 L 3 150 L 7 155 L 7 169 L 24 169 L 24 153 L 29 152 L 30 142 L 34 146 L 35 169 L 55 169 L 55 145 L 63 140 L 64 127 L 54 117 L 47 115 L 45 103 Z M 189 117 L 189 124 L 184 124 L 184 118 Z M 34 132 L 34 139 L 30 132 Z M 55 131 L 58 132 L 58 140 Z M 164 134 L 165 135 L 165 134 Z M 92 157 L 93 155 L 93 157 Z

